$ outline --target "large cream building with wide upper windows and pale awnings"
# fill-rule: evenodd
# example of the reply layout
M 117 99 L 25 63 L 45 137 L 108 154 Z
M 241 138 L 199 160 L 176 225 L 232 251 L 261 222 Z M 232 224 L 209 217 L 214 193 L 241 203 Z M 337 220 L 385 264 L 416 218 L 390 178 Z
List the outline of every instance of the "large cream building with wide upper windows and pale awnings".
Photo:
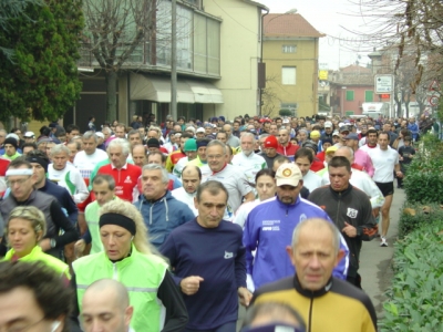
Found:
M 161 1 L 156 40 L 146 40 L 123 66 L 117 80 L 117 120 L 155 114 L 163 122 L 171 114 L 171 1 Z M 266 7 L 250 0 L 177 1 L 177 113 L 208 120 L 259 112 L 257 83 L 261 54 L 261 14 Z M 153 51 L 155 50 L 155 51 Z M 81 100 L 64 123 L 82 129 L 92 114 L 96 125 L 106 118 L 105 80 L 91 52 L 83 52 L 79 68 Z

